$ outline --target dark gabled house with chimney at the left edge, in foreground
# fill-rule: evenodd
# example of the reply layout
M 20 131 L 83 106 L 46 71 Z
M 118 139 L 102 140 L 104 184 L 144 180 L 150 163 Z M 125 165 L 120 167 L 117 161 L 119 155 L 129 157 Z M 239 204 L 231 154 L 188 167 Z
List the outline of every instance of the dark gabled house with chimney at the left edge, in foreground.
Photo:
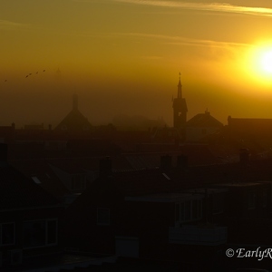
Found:
M 18 271 L 59 250 L 59 202 L 7 163 L 0 144 L 0 270 Z M 6 270 L 5 270 L 6 271 Z M 9 271 L 9 270 L 7 270 Z

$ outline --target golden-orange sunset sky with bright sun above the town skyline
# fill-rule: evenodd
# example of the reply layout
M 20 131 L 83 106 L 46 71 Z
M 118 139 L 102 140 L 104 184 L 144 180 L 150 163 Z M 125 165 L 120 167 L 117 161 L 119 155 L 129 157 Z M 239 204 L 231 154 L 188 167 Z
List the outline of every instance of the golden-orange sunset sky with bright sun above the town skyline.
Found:
M 272 118 L 270 0 L 0 0 L 0 125 Z

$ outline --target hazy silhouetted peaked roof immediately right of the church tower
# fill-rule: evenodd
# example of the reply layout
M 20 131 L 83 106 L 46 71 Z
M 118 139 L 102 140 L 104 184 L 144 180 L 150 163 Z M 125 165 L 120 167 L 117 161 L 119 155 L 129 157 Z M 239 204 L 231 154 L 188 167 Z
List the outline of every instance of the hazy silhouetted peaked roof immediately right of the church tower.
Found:
M 186 123 L 187 127 L 222 127 L 223 124 L 210 115 L 209 112 L 199 113 Z

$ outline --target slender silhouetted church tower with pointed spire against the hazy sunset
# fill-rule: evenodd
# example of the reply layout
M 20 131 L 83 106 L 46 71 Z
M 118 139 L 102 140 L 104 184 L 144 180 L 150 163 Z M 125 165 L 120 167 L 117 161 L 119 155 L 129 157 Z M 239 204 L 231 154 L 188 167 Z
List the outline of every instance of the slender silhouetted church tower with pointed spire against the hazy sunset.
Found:
M 184 134 L 188 109 L 185 98 L 182 98 L 182 85 L 180 81 L 178 84 L 178 96 L 177 98 L 173 98 L 172 101 L 174 128 L 182 131 L 182 134 Z

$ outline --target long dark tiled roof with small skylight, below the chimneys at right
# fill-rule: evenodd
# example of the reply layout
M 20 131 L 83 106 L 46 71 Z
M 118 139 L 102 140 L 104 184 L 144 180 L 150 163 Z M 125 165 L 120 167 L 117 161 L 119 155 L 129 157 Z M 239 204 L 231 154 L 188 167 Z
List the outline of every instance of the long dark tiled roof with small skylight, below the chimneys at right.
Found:
M 271 163 L 272 160 L 263 160 L 250 161 L 248 166 L 229 163 L 169 171 L 157 169 L 112 172 L 110 176 L 100 177 L 92 182 L 69 207 L 69 213 L 80 217 L 78 210 L 84 214 L 90 212 L 93 205 L 111 207 L 123 205 L 123 200 L 170 203 L 174 199 L 184 199 L 188 194 L 190 197 L 193 194 L 201 197 L 207 188 L 210 188 L 208 194 L 228 191 L 231 189 L 228 184 L 237 181 L 239 184 L 261 183 L 258 180 L 271 180 Z M 219 188 L 219 183 L 224 185 Z M 248 189 L 247 186 L 243 188 Z M 182 194 L 179 196 L 180 193 Z

